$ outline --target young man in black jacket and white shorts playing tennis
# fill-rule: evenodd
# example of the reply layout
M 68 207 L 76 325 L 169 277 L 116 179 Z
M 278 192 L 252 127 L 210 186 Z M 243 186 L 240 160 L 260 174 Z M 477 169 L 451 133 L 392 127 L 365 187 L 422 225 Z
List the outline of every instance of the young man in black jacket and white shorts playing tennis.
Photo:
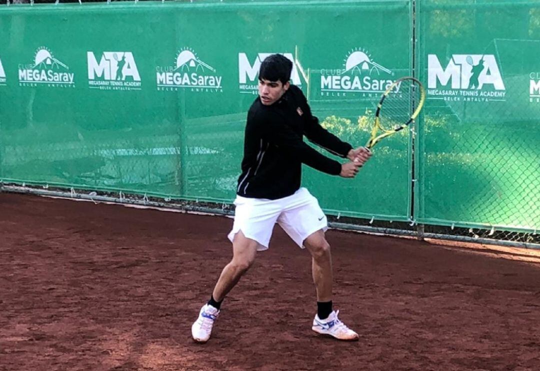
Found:
M 274 224 L 312 255 L 317 292 L 313 331 L 340 340 L 358 334 L 332 309 L 332 259 L 326 241 L 327 219 L 318 201 L 300 188 L 302 163 L 331 175 L 353 178 L 369 159 L 368 149 L 353 149 L 319 125 L 302 91 L 289 84 L 292 62 L 273 54 L 261 64 L 259 97 L 247 115 L 242 174 L 238 178 L 234 225 L 228 238 L 233 258 L 191 327 L 193 339 L 206 342 L 218 318 L 221 301 L 253 264 L 257 251 L 268 249 Z M 350 161 L 341 164 L 303 142 L 303 135 L 329 152 Z

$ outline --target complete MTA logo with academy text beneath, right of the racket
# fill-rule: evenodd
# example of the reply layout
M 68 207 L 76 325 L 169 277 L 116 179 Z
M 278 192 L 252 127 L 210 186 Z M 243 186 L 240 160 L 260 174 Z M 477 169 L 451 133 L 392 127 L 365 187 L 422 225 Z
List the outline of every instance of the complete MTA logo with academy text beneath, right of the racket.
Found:
M 506 88 L 493 54 L 453 54 L 446 67 L 428 54 L 428 98 L 504 101 Z

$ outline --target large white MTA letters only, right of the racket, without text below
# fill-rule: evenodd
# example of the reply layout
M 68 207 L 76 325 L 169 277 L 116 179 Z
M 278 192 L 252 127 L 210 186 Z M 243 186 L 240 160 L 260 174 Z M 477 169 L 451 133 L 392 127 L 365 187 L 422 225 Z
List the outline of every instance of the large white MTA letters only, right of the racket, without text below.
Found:
M 446 67 L 435 54 L 428 54 L 428 88 L 441 86 L 474 90 L 490 86 L 495 90 L 505 90 L 493 54 L 453 54 Z

